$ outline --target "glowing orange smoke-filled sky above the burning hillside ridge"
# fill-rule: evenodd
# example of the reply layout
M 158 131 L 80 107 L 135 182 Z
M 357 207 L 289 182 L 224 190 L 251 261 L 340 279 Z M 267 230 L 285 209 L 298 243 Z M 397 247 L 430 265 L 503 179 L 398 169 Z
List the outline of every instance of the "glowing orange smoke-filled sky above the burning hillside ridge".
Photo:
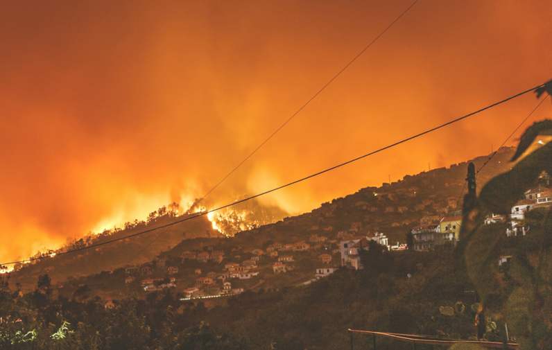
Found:
M 410 1 L 11 1 L 0 261 L 207 191 Z M 212 194 L 252 194 L 552 78 L 546 1 L 424 1 Z M 264 200 L 307 211 L 490 152 L 534 96 Z M 551 117 L 544 105 L 534 119 Z

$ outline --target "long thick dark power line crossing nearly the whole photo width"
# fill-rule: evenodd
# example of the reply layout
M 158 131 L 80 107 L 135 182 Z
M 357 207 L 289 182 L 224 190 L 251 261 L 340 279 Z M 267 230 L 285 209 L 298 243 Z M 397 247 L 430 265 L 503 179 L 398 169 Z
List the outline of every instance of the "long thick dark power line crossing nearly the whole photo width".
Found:
M 252 200 L 252 199 L 255 199 L 255 198 L 258 198 L 258 197 L 261 197 L 262 195 L 267 195 L 268 193 L 273 193 L 275 191 L 279 191 L 281 189 L 284 189 L 286 187 L 289 187 L 289 186 L 293 186 L 294 184 L 298 184 L 300 182 L 304 182 L 306 180 L 309 180 L 313 177 L 317 177 L 319 175 L 322 175 L 324 173 L 328 173 L 329 171 L 331 170 L 335 170 L 337 168 L 340 168 L 342 166 L 346 166 L 348 164 L 352 164 L 354 163 L 355 161 L 359 161 L 361 159 L 364 159 L 365 157 L 369 157 L 371 155 L 375 155 L 376 153 L 379 153 L 379 152 L 383 152 L 384 150 L 388 150 L 390 148 L 393 148 L 395 146 L 399 146 L 400 144 L 402 143 L 406 143 L 408 141 L 411 141 L 413 139 L 417 139 L 418 137 L 422 137 L 424 136 L 425 134 L 429 134 L 430 132 L 434 132 L 436 130 L 439 130 L 439 129 L 442 129 L 442 128 L 445 128 L 446 126 L 448 125 L 451 125 L 451 124 L 454 124 L 454 123 L 457 123 L 458 121 L 463 121 L 464 119 L 467 119 L 471 116 L 474 116 L 476 114 L 479 114 L 481 112 L 484 112 L 485 110 L 489 110 L 490 108 L 492 107 L 496 107 L 497 105 L 501 105 L 502 103 L 506 103 L 508 102 L 509 100 L 512 100 L 514 98 L 517 98 L 521 95 L 524 95 L 524 94 L 527 94 L 528 92 L 531 92 L 531 91 L 534 91 L 535 89 L 538 89 L 540 87 L 544 86 L 544 84 L 540 84 L 540 85 L 537 85 L 535 87 L 531 87 L 531 89 L 526 89 L 524 91 L 521 91 L 521 92 L 518 92 L 517 94 L 514 94 L 512 96 L 509 96 L 507 98 L 504 98 L 503 100 L 499 100 L 498 102 L 495 102 L 495 103 L 492 103 L 490 105 L 487 105 L 485 107 L 482 107 L 480 108 L 479 110 L 476 110 L 474 112 L 470 112 L 468 114 L 465 114 L 463 116 L 459 116 L 458 118 L 456 119 L 452 119 L 451 121 L 447 121 L 446 123 L 442 123 L 438 126 L 435 126 L 433 128 L 430 128 L 430 129 L 427 129 L 427 130 L 424 130 L 422 132 L 419 132 L 417 134 L 414 134 L 410 137 L 406 137 L 406 139 L 402 139 L 400 141 L 397 141 L 395 143 L 391 143 L 389 144 L 388 146 L 383 146 L 381 148 L 378 148 L 377 150 L 373 150 L 371 152 L 368 152 L 368 153 L 365 153 L 364 155 L 361 155 L 359 157 L 355 157 L 353 159 L 350 159 L 350 160 L 347 160 L 347 161 L 343 161 L 342 163 L 339 163 L 339 164 L 336 164 L 334 166 L 331 166 L 329 168 L 325 168 L 323 170 L 320 170 L 316 173 L 313 173 L 311 175 L 307 175 L 305 177 L 301 177 L 300 179 L 298 180 L 294 180 L 292 182 L 288 182 L 287 184 L 283 184 L 281 186 L 277 186 L 273 189 L 270 189 L 270 190 L 267 190 L 267 191 L 264 191 L 264 192 L 261 192 L 261 193 L 257 193 L 256 195 L 250 195 L 249 197 L 246 197 L 246 198 L 243 198 L 241 200 L 236 200 L 235 202 L 232 202 L 232 203 L 229 203 L 229 204 L 225 204 L 221 207 L 217 207 L 215 209 L 209 209 L 207 211 L 202 211 L 200 213 L 195 213 L 193 215 L 190 215 L 190 216 L 187 216 L 186 218 L 182 218 L 180 220 L 175 220 L 173 222 L 169 222 L 167 224 L 164 224 L 164 225 L 160 225 L 160 226 L 157 226 L 157 227 L 152 227 L 150 229 L 145 229 L 144 231 L 139 231 L 139 232 L 136 232 L 135 234 L 130 234 L 128 236 L 123 236 L 123 237 L 119 237 L 119 238 L 113 238 L 112 240 L 106 240 L 104 242 L 100 242 L 100 243 L 96 243 L 96 244 L 93 244 L 93 245 L 88 245 L 86 247 L 80 247 L 80 248 L 77 248 L 75 250 L 68 250 L 67 252 L 59 252 L 57 253 L 55 256 L 61 256 L 61 255 L 67 255 L 67 254 L 71 254 L 71 253 L 74 253 L 74 252 L 80 252 L 80 251 L 83 251 L 83 250 L 88 250 L 88 249 L 92 249 L 94 247 L 99 247 L 101 245 L 107 245 L 107 244 L 110 244 L 110 243 L 114 243 L 114 242 L 117 242 L 117 241 L 120 241 L 120 240 L 124 240 L 126 238 L 132 238 L 132 237 L 136 237 L 136 236 L 141 236 L 143 234 L 147 234 L 148 232 L 151 232 L 151 231 L 155 231 L 157 229 L 164 229 L 166 227 L 170 227 L 170 226 L 173 226 L 173 225 L 176 225 L 180 222 L 184 222 L 184 221 L 188 221 L 188 220 L 192 220 L 192 219 L 195 219 L 195 218 L 198 218 L 200 216 L 205 216 L 209 213 L 213 213 L 215 211 L 219 211 L 219 210 L 222 210 L 222 209 L 225 209 L 225 208 L 228 208 L 228 207 L 233 207 L 234 205 L 236 204 L 240 204 L 240 203 L 243 203 L 243 202 L 247 202 L 248 200 Z M 15 264 L 15 263 L 26 263 L 26 262 L 30 262 L 30 261 L 35 261 L 35 260 L 40 260 L 40 259 L 47 259 L 47 258 L 30 258 L 30 259 L 25 259 L 25 260 L 20 260 L 20 261 L 10 261 L 8 263 L 0 263 L 0 265 L 12 265 L 12 264 Z

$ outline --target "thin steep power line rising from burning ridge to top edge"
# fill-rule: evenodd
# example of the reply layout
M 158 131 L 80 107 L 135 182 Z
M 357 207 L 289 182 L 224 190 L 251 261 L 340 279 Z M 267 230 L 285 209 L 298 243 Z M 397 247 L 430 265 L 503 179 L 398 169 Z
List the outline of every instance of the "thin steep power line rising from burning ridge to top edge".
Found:
M 347 70 L 347 68 L 350 67 L 351 64 L 353 64 L 359 57 L 361 57 L 361 55 L 363 55 L 363 53 L 365 53 L 365 51 L 367 51 L 368 49 L 370 49 L 370 46 L 372 46 L 373 44 L 375 44 L 379 38 L 381 38 L 385 33 L 387 33 L 387 31 L 393 27 L 393 25 L 395 23 L 397 23 L 397 21 L 399 21 L 399 19 L 401 19 L 404 15 L 406 15 L 406 12 L 408 12 L 411 8 L 413 8 L 413 6 L 417 3 L 418 0 L 415 0 L 413 3 L 411 3 L 410 6 L 408 6 L 408 8 L 406 8 L 406 10 L 404 10 L 403 12 L 401 12 L 400 15 L 398 15 L 395 19 L 393 19 L 393 21 L 391 21 L 391 23 L 386 26 L 385 29 L 383 29 L 381 31 L 381 33 L 379 33 L 376 37 L 374 37 L 374 39 L 369 42 L 366 46 L 364 46 L 364 48 L 359 52 L 357 53 L 354 58 L 352 58 L 352 60 L 350 60 L 349 62 L 347 62 L 347 64 L 345 64 L 345 66 L 340 69 L 336 74 L 334 74 L 334 76 L 331 77 L 330 80 L 328 80 L 325 85 L 322 85 L 322 87 L 320 87 L 320 89 L 318 89 L 318 91 L 316 91 L 315 94 L 313 94 L 313 96 L 311 96 L 311 98 L 309 98 L 309 100 L 307 100 L 307 102 L 305 102 L 301 107 L 299 107 L 298 110 L 295 111 L 295 113 L 291 114 L 291 116 L 286 119 L 286 121 L 284 121 L 284 123 L 282 123 L 282 125 L 279 125 L 278 128 L 276 128 L 276 130 L 274 130 L 274 132 L 272 134 L 270 134 L 264 141 L 262 141 L 259 146 L 257 146 L 257 148 L 255 148 L 254 150 L 252 150 L 252 152 L 250 152 L 250 154 L 245 157 L 242 161 L 240 161 L 236 166 L 234 166 L 234 168 L 232 168 L 232 170 L 230 170 L 230 172 L 228 172 L 221 180 L 219 180 L 213 187 L 212 189 L 209 189 L 209 191 L 207 191 L 207 193 L 205 193 L 205 195 L 200 198 L 200 201 L 205 199 L 209 194 L 211 194 L 215 189 L 218 188 L 218 186 L 221 186 L 221 184 L 223 182 L 225 182 L 225 180 L 230 177 L 230 175 L 232 175 L 236 170 L 238 170 L 238 168 L 240 168 L 244 163 L 245 161 L 248 161 L 248 159 L 250 159 L 253 155 L 255 155 L 255 153 L 257 153 L 258 150 L 260 150 L 268 141 L 270 141 L 270 139 L 272 139 L 275 134 L 277 134 L 280 130 L 282 130 L 293 118 L 295 118 L 295 116 L 297 116 L 297 114 L 300 114 L 300 112 L 302 112 L 302 110 L 304 110 L 305 107 L 307 107 L 307 105 L 309 105 L 309 103 L 311 103 L 315 98 L 318 97 L 318 95 L 320 95 L 322 93 L 322 91 L 324 91 L 332 82 L 334 82 L 334 80 L 336 80 L 340 75 L 341 73 L 343 73 L 345 70 Z

